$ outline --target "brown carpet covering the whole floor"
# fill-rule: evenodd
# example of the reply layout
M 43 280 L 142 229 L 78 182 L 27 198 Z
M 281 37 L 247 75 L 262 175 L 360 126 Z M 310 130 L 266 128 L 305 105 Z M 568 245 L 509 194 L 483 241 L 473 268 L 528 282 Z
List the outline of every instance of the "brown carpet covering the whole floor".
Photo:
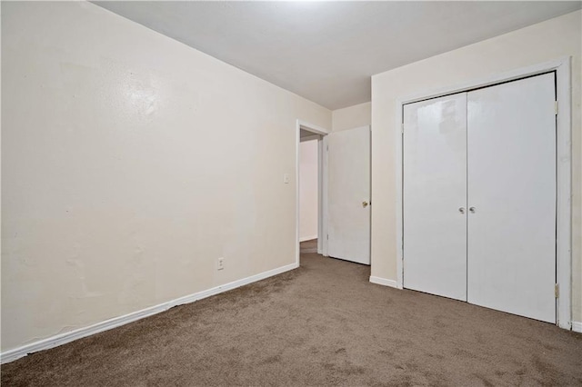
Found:
M 3 386 L 582 385 L 582 334 L 301 267 L 2 366 Z

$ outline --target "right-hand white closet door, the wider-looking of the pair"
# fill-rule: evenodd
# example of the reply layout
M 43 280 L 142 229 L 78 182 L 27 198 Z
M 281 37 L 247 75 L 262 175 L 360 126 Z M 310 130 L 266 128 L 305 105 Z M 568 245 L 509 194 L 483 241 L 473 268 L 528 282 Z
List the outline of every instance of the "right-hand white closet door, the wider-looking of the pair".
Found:
M 467 94 L 467 301 L 556 323 L 554 74 Z

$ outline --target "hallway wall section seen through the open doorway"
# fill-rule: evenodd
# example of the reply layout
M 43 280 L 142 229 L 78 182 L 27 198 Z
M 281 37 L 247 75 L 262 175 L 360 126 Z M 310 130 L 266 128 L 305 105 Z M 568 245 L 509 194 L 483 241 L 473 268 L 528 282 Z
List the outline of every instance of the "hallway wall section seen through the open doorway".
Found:
M 299 240 L 317 237 L 318 189 L 317 140 L 299 144 Z

